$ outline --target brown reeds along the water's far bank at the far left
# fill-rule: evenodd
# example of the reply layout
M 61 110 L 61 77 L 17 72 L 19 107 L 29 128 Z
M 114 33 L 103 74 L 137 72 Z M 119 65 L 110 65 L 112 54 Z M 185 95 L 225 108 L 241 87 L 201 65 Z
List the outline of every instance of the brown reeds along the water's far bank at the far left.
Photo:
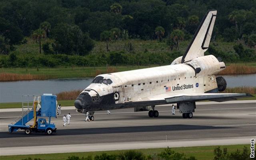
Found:
M 16 81 L 16 80 L 45 80 L 47 76 L 32 75 L 32 74 L 15 74 L 15 73 L 0 73 L 0 81 Z

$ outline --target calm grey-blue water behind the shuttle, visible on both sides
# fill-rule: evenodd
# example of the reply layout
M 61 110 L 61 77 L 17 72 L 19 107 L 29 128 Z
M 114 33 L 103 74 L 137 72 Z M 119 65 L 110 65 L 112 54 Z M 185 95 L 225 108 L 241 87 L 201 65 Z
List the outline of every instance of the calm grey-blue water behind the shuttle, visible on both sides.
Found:
M 256 87 L 256 74 L 223 76 L 227 87 Z M 57 94 L 63 91 L 82 90 L 89 86 L 93 78 L 70 78 L 56 80 L 29 80 L 15 82 L 0 82 L 0 102 L 20 102 L 22 95 Z

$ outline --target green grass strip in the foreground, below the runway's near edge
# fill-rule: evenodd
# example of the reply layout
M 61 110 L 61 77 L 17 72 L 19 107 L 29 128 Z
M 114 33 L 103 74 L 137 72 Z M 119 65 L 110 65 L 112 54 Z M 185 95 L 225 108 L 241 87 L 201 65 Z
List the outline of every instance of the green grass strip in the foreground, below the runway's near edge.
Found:
M 250 145 L 228 145 L 228 146 L 221 146 L 221 148 L 228 148 L 228 152 L 234 152 L 236 149 L 242 150 L 244 146 L 247 146 L 248 149 Z M 172 148 L 175 152 L 184 153 L 186 157 L 195 156 L 198 160 L 212 160 L 214 158 L 214 148 L 216 146 L 198 146 L 198 147 L 180 147 L 180 148 Z M 152 149 L 140 149 L 140 151 L 146 155 L 151 154 L 158 154 L 164 151 L 165 148 L 152 148 Z M 116 150 L 116 151 L 106 151 L 107 154 L 119 154 L 124 150 Z M 86 157 L 86 156 L 96 156 L 102 154 L 104 152 L 78 152 L 78 153 L 56 153 L 56 154 L 33 154 L 33 155 L 18 155 L 18 156 L 0 156 L 1 160 L 22 160 L 25 158 L 41 158 L 44 160 L 66 160 L 68 156 L 79 156 L 79 157 Z

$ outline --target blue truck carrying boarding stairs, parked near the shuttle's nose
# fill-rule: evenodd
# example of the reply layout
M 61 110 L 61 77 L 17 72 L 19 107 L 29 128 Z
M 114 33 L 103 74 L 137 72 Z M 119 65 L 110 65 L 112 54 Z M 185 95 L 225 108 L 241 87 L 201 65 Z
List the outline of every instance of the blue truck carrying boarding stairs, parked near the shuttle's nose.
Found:
M 26 96 L 29 98 L 29 95 Z M 22 102 L 22 115 L 8 125 L 9 132 L 24 130 L 26 134 L 31 132 L 41 132 L 48 135 L 56 133 L 56 126 L 51 123 L 51 117 L 57 118 L 57 96 L 44 94 L 32 97 L 32 102 Z M 48 123 L 44 117 L 48 117 Z M 27 125 L 32 119 L 32 124 Z

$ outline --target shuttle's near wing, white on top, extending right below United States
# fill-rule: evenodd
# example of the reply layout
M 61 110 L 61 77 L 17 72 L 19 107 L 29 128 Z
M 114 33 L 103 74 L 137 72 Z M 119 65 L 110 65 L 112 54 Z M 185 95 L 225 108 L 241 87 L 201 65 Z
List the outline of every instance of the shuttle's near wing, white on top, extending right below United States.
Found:
M 203 94 L 160 94 L 157 96 L 152 96 L 148 98 L 142 98 L 136 101 L 129 101 L 126 104 L 138 104 L 138 105 L 160 105 L 168 103 L 178 103 L 178 102 L 192 102 L 192 101 L 230 101 L 236 100 L 237 98 L 251 97 L 250 94 L 244 93 L 234 93 L 234 94 L 219 94 L 219 93 L 203 93 Z

